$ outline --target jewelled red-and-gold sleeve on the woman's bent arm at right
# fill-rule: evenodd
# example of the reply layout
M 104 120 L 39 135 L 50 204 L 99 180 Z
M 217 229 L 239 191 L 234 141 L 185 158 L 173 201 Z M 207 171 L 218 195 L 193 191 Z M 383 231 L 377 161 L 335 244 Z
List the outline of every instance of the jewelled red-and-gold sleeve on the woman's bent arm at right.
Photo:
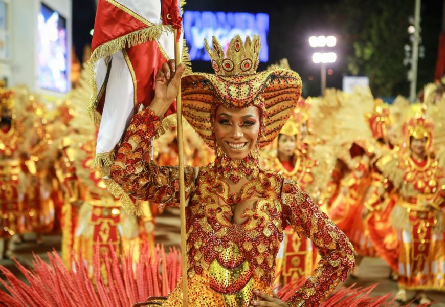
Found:
M 314 274 L 286 302 L 291 306 L 318 306 L 354 267 L 354 250 L 346 235 L 302 192 L 294 181 L 283 185 L 283 227 L 310 238 L 322 256 Z

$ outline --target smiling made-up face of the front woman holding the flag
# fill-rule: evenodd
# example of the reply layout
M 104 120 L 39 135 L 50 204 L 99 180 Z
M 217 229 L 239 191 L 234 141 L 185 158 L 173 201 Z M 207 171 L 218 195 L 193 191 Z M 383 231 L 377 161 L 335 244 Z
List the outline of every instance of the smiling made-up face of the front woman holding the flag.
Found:
M 260 113 L 257 107 L 241 109 L 219 105 L 215 115 L 216 142 L 234 160 L 240 160 L 254 148 L 260 131 Z

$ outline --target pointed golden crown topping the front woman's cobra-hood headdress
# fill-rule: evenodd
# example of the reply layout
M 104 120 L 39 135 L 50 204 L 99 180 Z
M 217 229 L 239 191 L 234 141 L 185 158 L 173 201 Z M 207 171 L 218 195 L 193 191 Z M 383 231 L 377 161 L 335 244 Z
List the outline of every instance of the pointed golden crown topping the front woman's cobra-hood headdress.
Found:
M 254 35 L 252 41 L 246 37 L 243 43 L 239 35 L 236 35 L 227 49 L 226 55 L 221 44 L 215 36 L 212 37 L 212 50 L 210 50 L 207 40 L 204 45 L 212 61 L 212 67 L 216 75 L 240 76 L 256 73 L 259 65 L 259 50 L 261 47 L 260 37 Z

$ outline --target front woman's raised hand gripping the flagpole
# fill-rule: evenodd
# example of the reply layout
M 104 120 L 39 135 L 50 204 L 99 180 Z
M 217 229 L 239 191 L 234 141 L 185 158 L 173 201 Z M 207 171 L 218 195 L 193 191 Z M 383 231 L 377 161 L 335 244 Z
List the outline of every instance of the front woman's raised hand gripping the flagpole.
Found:
M 164 116 L 171 103 L 176 99 L 184 71 L 185 65 L 180 64 L 176 67 L 174 60 L 168 60 L 162 64 L 162 68 L 154 79 L 154 98 L 148 106 L 157 116 Z

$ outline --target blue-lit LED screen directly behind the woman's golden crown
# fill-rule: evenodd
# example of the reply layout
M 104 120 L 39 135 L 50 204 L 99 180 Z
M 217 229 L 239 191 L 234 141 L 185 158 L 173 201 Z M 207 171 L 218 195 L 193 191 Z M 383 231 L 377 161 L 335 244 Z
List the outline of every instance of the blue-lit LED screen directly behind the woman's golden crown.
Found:
M 268 14 L 185 11 L 183 18 L 184 35 L 192 61 L 209 60 L 204 48 L 204 38 L 211 46 L 212 36 L 216 36 L 222 48 L 226 50 L 230 39 L 236 34 L 239 34 L 242 39 L 247 35 L 252 37 L 253 34 L 259 34 L 261 36 L 260 61 L 269 60 Z

